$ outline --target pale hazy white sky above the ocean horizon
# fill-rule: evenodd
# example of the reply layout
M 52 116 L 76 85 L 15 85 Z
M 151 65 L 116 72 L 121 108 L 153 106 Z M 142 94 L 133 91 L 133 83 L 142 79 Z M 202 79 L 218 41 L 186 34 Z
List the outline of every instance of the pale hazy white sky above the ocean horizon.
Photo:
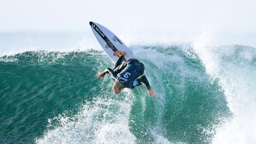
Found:
M 255 0 L 0 0 L 0 31 L 256 31 Z

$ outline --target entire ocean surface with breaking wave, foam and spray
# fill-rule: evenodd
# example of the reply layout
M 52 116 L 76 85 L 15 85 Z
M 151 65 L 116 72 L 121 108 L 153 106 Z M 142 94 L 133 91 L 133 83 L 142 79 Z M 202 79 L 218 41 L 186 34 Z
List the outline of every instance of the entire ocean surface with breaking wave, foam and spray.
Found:
M 92 31 L 0 33 L 0 144 L 256 143 L 255 33 L 136 35 L 155 98 L 96 78 L 113 63 Z

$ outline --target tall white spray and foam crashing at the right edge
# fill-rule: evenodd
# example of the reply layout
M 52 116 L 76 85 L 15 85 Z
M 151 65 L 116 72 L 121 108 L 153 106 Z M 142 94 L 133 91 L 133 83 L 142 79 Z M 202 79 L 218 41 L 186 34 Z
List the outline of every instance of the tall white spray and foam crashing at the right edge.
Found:
M 194 49 L 208 74 L 218 78 L 228 107 L 234 116 L 217 129 L 214 144 L 254 144 L 256 142 L 256 70 L 250 65 L 256 49 L 235 45 L 207 47 L 213 33 L 205 31 L 194 42 Z M 234 52 L 236 50 L 237 52 Z

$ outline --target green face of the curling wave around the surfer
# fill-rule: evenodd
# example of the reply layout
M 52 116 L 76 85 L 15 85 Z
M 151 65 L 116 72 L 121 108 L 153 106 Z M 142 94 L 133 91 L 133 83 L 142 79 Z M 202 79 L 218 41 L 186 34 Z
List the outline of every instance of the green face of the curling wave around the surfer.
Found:
M 230 118 L 218 79 L 195 54 L 142 47 L 138 57 L 157 92 L 145 86 L 114 94 L 113 64 L 103 52 L 24 52 L 0 58 L 0 143 L 208 144 Z

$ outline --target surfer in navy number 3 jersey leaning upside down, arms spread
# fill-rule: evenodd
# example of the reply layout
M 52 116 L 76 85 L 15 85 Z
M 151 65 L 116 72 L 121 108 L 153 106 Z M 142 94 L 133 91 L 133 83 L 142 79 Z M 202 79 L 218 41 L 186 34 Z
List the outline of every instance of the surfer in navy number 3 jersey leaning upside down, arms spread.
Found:
M 156 92 L 150 88 L 148 79 L 143 74 L 145 69 L 143 63 L 134 58 L 126 61 L 124 59 L 126 52 L 115 51 L 113 55 L 119 56 L 113 70 L 111 68 L 106 68 L 103 72 L 98 72 L 96 77 L 103 79 L 105 74 L 110 74 L 115 81 L 112 89 L 116 94 L 119 94 L 124 88 L 133 89 L 134 87 L 141 85 L 141 82 L 145 83 L 148 89 L 148 94 L 155 97 Z

